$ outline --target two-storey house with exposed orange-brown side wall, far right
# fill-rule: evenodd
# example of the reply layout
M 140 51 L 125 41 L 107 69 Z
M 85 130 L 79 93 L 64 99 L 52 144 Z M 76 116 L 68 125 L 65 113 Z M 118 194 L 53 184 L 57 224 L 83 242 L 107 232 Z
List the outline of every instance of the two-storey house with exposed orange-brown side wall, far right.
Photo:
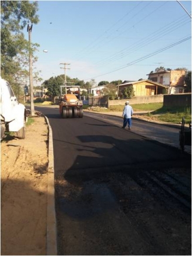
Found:
M 151 72 L 147 75 L 149 80 L 169 87 L 169 94 L 181 94 L 184 92 L 185 69 Z

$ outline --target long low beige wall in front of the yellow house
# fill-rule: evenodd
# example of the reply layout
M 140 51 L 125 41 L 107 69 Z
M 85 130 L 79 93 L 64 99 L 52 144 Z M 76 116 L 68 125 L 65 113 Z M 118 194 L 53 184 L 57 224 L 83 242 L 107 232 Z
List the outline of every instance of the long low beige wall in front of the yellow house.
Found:
M 114 99 L 108 102 L 108 106 L 124 105 L 127 99 Z M 163 102 L 163 94 L 151 95 L 151 96 L 138 96 L 133 99 L 128 99 L 131 104 L 143 104 L 143 103 L 154 103 Z

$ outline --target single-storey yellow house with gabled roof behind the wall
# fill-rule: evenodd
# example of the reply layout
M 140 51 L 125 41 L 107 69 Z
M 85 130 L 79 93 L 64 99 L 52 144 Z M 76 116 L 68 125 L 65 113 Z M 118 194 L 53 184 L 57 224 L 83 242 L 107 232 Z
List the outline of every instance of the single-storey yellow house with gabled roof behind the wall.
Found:
M 133 86 L 134 96 L 149 96 L 157 94 L 167 94 L 167 86 L 150 80 L 124 81 L 119 85 L 118 97 L 122 97 L 122 91 L 126 87 Z

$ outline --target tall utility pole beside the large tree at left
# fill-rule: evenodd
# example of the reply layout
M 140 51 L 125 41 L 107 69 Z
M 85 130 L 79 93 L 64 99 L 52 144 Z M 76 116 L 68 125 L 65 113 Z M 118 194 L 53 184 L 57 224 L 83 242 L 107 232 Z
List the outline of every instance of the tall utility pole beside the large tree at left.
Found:
M 30 85 L 30 99 L 31 99 L 31 116 L 35 116 L 35 109 L 34 109 L 34 101 L 33 101 L 33 74 L 32 74 L 32 48 L 31 48 L 31 32 L 32 27 L 29 26 L 27 28 L 27 32 L 29 33 L 29 85 Z

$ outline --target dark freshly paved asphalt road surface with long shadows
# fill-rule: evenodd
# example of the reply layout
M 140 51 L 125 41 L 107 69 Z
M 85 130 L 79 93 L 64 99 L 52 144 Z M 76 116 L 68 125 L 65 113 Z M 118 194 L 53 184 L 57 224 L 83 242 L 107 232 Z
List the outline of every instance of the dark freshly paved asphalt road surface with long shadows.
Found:
M 53 132 L 59 255 L 191 255 L 191 155 L 153 140 L 178 128 L 36 109 Z

